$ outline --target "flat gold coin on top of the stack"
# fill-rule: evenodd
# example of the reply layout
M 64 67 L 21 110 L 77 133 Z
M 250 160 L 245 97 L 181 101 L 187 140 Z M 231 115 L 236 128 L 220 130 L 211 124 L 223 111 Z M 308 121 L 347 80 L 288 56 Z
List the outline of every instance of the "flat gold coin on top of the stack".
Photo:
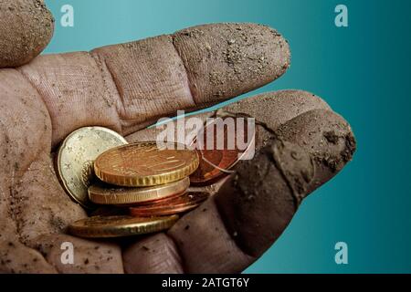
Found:
M 160 149 L 155 141 L 140 142 L 105 151 L 94 162 L 94 172 L 106 183 L 142 187 L 181 180 L 198 163 L 196 151 L 184 145 L 165 143 Z

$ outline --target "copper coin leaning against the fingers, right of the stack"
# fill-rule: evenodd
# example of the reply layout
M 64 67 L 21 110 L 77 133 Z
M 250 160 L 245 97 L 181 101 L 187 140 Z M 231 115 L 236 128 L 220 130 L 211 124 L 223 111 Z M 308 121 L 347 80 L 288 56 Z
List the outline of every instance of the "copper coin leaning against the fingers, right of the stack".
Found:
M 235 125 L 235 127 L 235 130 L 231 131 L 231 133 L 237 132 L 237 125 Z M 210 130 L 214 133 L 214 145 L 212 145 L 211 149 L 206 141 L 207 132 Z M 248 134 L 251 133 L 248 133 L 246 125 L 244 126 L 243 133 L 244 141 L 248 141 Z M 208 123 L 205 125 L 205 130 L 201 130 L 197 134 L 195 141 L 193 141 L 193 145 L 195 145 L 195 148 L 199 153 L 200 164 L 197 170 L 190 176 L 190 181 L 193 185 L 209 185 L 216 183 L 219 179 L 232 173 L 230 170 L 241 160 L 242 156 L 248 151 L 248 148 L 252 147 L 255 139 L 254 133 L 252 133 L 248 148 L 245 151 L 242 151 L 237 148 L 236 135 L 234 135 L 234 143 L 232 143 L 235 147 L 228 147 L 229 136 L 227 127 L 224 128 L 224 135 L 218 135 L 216 122 Z M 217 139 L 224 139 L 224 149 L 218 149 L 216 147 Z

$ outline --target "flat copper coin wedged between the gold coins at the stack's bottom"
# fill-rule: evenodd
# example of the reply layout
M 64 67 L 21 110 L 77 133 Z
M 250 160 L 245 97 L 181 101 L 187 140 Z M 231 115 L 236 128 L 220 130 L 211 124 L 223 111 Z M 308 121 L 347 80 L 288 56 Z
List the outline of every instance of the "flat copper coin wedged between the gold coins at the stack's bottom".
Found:
M 133 216 L 162 216 L 184 213 L 195 209 L 209 197 L 205 192 L 189 192 L 161 203 L 153 203 L 144 206 L 130 208 Z

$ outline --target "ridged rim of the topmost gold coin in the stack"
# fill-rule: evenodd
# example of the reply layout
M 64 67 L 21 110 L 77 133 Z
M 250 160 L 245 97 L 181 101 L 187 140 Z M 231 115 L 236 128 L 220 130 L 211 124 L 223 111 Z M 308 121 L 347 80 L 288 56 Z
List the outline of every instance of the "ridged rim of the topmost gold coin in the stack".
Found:
M 114 147 L 108 151 L 115 151 L 123 147 L 132 147 L 133 145 L 139 145 L 139 144 L 156 144 L 156 142 L 155 141 L 142 141 L 142 142 L 130 143 L 127 145 L 121 145 L 118 147 Z M 174 142 L 174 144 L 177 145 L 178 143 Z M 186 146 L 184 145 L 184 147 Z M 105 183 L 119 185 L 119 186 L 142 187 L 142 186 L 155 186 L 155 185 L 160 185 L 164 183 L 173 183 L 175 181 L 182 180 L 184 177 L 189 176 L 191 173 L 195 172 L 195 170 L 198 168 L 198 165 L 200 164 L 198 153 L 196 151 L 192 151 L 193 153 L 195 153 L 195 158 L 193 162 L 189 162 L 188 165 L 182 167 L 181 169 L 176 169 L 173 172 L 151 174 L 151 175 L 145 175 L 145 176 L 107 174 L 103 172 L 102 170 L 100 170 L 97 164 L 98 164 L 99 158 L 102 157 L 102 155 L 107 153 L 108 151 L 101 153 L 96 158 L 96 160 L 93 163 L 94 172 L 101 181 Z M 184 151 L 190 151 L 190 150 L 184 149 Z

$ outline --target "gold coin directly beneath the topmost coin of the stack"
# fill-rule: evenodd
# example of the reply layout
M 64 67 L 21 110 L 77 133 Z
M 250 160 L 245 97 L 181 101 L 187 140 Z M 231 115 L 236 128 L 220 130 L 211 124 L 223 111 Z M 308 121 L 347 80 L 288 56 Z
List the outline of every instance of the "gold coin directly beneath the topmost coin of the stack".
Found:
M 100 204 L 150 203 L 178 193 L 184 193 L 189 186 L 190 179 L 188 177 L 174 183 L 142 188 L 116 187 L 107 183 L 94 183 L 89 187 L 89 198 L 91 202 Z

